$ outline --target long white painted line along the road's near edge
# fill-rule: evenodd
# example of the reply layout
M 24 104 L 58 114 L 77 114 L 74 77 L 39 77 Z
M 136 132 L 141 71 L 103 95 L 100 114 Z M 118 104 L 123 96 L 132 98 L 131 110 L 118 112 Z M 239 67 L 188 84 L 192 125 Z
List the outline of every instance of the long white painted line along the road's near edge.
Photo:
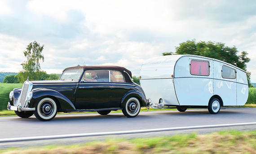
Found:
M 173 128 L 155 128 L 155 129 L 141 129 L 141 130 L 116 131 L 116 132 L 90 132 L 90 133 L 80 133 L 80 134 L 14 137 L 14 138 L 2 138 L 2 139 L 0 139 L 0 142 L 31 141 L 31 140 L 46 140 L 46 139 L 49 140 L 49 139 L 59 139 L 59 138 L 102 136 L 102 135 L 120 135 L 120 134 L 134 134 L 134 133 L 144 133 L 144 132 L 162 132 L 162 131 L 174 131 L 174 130 L 185 130 L 185 129 L 244 126 L 244 125 L 254 125 L 254 124 L 256 124 L 256 122 L 216 124 L 216 125 L 201 125 L 201 126 L 185 126 L 185 127 L 173 127 Z

